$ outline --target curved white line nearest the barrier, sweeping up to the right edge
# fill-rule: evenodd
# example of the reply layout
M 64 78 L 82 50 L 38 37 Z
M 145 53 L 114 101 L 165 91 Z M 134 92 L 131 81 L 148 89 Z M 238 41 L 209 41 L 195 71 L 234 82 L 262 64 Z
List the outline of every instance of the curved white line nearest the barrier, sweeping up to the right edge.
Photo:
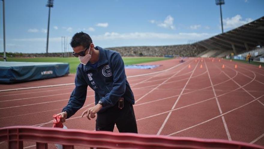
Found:
M 226 115 L 226 114 L 228 114 L 228 113 L 230 113 L 230 112 L 232 112 L 232 111 L 234 111 L 234 110 L 240 109 L 241 107 L 244 107 L 244 106 L 246 106 L 246 105 L 248 105 L 248 104 L 251 104 L 252 102 L 258 100 L 259 98 L 262 98 L 263 96 L 264 96 L 264 95 L 262 95 L 262 96 L 260 96 L 260 97 L 258 97 L 258 98 L 256 98 L 256 99 L 254 99 L 254 100 L 252 100 L 252 101 L 250 101 L 250 102 L 248 102 L 248 103 L 246 103 L 246 104 L 244 104 L 244 105 L 242 105 L 242 106 L 240 106 L 240 107 L 237 107 L 237 108 L 235 108 L 235 109 L 233 109 L 233 110 L 229 110 L 229 111 L 227 111 L 226 113 L 223 113 L 223 114 L 220 114 L 220 115 L 218 115 L 218 116 L 215 116 L 215 117 L 213 117 L 213 118 L 211 118 L 211 119 L 209 119 L 209 120 L 206 120 L 206 121 L 201 122 L 201 123 L 199 123 L 199 124 L 196 124 L 196 125 L 190 126 L 190 127 L 188 127 L 188 128 L 185 128 L 185 129 L 179 130 L 179 131 L 177 131 L 177 132 L 173 132 L 173 133 L 169 134 L 168 136 L 170 136 L 170 135 L 175 135 L 175 134 L 177 134 L 177 133 L 179 133 L 179 132 L 183 132 L 183 131 L 185 131 L 185 130 L 188 130 L 188 129 L 194 128 L 194 127 L 196 127 L 196 126 L 202 125 L 202 124 L 204 124 L 204 123 L 207 123 L 207 122 L 209 122 L 209 121 L 211 121 L 211 120 L 214 120 L 214 119 L 216 119 L 216 118 L 218 118 L 218 117 L 221 117 L 221 116 L 223 116 L 223 115 Z

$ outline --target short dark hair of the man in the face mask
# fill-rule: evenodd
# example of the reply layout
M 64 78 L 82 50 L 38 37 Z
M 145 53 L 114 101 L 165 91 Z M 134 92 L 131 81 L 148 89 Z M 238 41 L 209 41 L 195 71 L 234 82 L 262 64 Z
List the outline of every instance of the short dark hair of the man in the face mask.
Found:
M 70 46 L 75 48 L 77 46 L 82 45 L 84 48 L 88 47 L 92 43 L 91 37 L 83 32 L 79 32 L 73 35 Z

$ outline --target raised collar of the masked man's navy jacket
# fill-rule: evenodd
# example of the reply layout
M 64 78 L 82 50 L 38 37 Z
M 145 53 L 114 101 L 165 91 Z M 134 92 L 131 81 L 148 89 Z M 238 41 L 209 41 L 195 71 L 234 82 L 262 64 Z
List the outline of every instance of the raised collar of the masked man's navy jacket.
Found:
M 100 67 L 103 64 L 106 64 L 108 62 L 107 60 L 107 55 L 106 52 L 103 48 L 96 46 L 95 50 L 99 50 L 99 59 L 98 59 L 98 64 L 97 64 L 97 68 Z M 81 64 L 83 65 L 83 64 Z M 88 63 L 86 65 L 83 65 L 83 70 L 85 72 L 87 72 L 88 70 L 93 69 L 93 67 L 91 67 Z

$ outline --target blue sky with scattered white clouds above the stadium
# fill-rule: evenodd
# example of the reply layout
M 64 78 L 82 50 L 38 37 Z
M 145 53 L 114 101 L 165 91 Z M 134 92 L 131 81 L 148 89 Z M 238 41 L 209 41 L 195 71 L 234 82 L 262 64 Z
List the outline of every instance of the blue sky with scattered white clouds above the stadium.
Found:
M 5 0 L 6 51 L 45 53 L 47 0 Z M 67 50 L 72 36 L 88 33 L 95 45 L 179 45 L 221 33 L 215 0 L 54 0 L 48 51 Z M 0 52 L 3 48 L 3 3 L 0 1 Z M 224 32 L 264 16 L 264 0 L 225 0 Z

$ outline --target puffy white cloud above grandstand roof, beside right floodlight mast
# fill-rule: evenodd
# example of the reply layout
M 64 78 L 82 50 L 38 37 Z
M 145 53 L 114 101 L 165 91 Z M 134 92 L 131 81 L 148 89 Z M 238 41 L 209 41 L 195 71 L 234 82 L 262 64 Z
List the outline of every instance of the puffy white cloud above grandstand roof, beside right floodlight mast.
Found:
M 223 28 L 229 29 L 229 28 L 236 28 L 238 26 L 244 25 L 246 23 L 249 23 L 253 21 L 251 18 L 246 18 L 245 20 L 242 20 L 241 15 L 237 14 L 234 17 L 223 19 Z

